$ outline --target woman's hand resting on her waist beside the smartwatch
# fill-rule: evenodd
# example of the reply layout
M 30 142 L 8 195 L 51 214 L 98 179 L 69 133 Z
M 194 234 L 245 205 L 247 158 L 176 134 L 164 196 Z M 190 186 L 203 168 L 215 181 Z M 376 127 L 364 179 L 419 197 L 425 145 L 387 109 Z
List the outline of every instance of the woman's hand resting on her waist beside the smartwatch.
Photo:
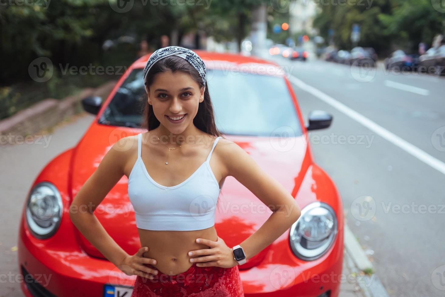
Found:
M 238 262 L 233 257 L 233 250 L 226 245 L 221 237 L 217 237 L 217 241 L 197 238 L 197 243 L 208 245 L 210 246 L 210 249 L 196 249 L 194 251 L 190 251 L 188 255 L 191 257 L 197 255 L 206 255 L 202 257 L 190 258 L 190 262 L 196 262 L 196 266 L 198 267 L 217 266 L 223 268 L 231 268 L 238 265 Z

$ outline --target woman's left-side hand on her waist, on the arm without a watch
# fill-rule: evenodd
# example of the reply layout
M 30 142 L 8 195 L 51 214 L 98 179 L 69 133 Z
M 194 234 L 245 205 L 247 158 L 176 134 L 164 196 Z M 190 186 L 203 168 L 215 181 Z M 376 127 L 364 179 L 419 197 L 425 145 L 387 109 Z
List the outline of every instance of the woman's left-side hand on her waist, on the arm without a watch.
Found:
M 153 279 L 153 274 L 157 275 L 158 270 L 147 267 L 143 264 L 156 264 L 156 260 L 143 257 L 143 254 L 146 251 L 148 251 L 148 247 L 144 246 L 140 248 L 133 256 L 126 256 L 121 265 L 117 266 L 117 268 L 119 268 L 126 275 L 138 275 Z

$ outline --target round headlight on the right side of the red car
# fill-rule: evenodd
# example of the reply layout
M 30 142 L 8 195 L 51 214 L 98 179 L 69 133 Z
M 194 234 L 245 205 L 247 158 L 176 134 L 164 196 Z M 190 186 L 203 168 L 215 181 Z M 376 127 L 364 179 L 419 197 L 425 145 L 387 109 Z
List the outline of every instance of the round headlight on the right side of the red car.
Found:
M 295 256 L 305 261 L 316 260 L 335 241 L 337 217 L 326 203 L 313 202 L 301 210 L 301 216 L 290 231 L 289 243 Z

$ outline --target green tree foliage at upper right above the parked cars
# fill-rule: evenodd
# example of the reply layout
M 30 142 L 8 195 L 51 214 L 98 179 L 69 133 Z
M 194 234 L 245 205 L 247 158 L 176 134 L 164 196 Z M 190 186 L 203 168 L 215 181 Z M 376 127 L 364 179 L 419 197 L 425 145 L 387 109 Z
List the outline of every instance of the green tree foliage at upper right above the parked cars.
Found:
M 431 44 L 433 36 L 444 32 L 445 15 L 434 9 L 431 0 L 374 0 L 372 5 L 352 5 L 352 1 L 332 5 L 338 0 L 332 1 L 321 6 L 314 26 L 327 41 L 328 30 L 333 29 L 332 40 L 339 48 L 352 48 L 352 24 L 360 25 L 358 45 L 383 55 L 395 48 L 417 52 L 420 42 Z

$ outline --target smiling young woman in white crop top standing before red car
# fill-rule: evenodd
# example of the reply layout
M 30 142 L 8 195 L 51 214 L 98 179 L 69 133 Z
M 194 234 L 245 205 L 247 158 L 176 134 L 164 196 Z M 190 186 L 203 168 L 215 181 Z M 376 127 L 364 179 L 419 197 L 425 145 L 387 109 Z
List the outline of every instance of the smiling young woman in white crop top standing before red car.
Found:
M 142 248 L 127 254 L 92 212 L 70 217 L 109 261 L 125 274 L 137 275 L 132 297 L 244 296 L 238 265 L 289 229 L 300 216 L 299 206 L 239 145 L 221 136 L 206 66 L 195 52 L 177 46 L 158 49 L 144 69 L 144 82 L 148 132 L 117 141 L 73 201 L 77 209 L 97 207 L 125 174 Z M 234 247 L 214 228 L 227 176 L 273 211 L 257 232 Z

